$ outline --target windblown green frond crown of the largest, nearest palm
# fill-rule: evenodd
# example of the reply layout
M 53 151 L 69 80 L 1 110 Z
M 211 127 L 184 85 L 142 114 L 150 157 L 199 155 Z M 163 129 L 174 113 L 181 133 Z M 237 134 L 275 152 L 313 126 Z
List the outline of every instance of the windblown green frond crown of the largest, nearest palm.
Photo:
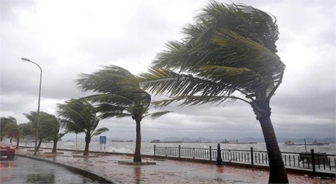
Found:
M 195 23 L 182 31 L 185 34 L 182 41 L 168 41 L 166 49 L 156 55 L 154 68 L 177 72 L 179 80 L 192 75 L 212 87 L 201 92 L 195 90 L 196 85 L 188 86 L 185 79 L 181 82 L 173 75 L 169 79 L 168 75 L 149 71 L 148 75 L 142 74 L 147 81 L 140 85 L 150 92 L 177 97 L 231 96 L 233 91 L 239 91 L 254 100 L 252 97 L 257 98 L 257 93 L 273 95 L 276 84 L 281 83 L 285 65 L 275 54 L 279 32 L 270 14 L 243 4 L 212 1 L 195 17 Z M 217 69 L 204 70 L 205 66 L 217 66 Z M 230 75 L 229 68 L 240 72 Z

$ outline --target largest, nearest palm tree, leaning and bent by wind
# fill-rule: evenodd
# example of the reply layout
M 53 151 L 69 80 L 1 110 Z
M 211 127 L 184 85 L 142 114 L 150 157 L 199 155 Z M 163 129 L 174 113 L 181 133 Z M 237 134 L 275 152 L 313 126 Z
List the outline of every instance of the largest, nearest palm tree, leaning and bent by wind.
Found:
M 139 80 L 141 86 L 171 99 L 163 107 L 220 104 L 241 100 L 260 122 L 269 156 L 270 183 L 288 183 L 287 173 L 270 119 L 270 100 L 282 82 L 285 65 L 276 54 L 275 19 L 245 5 L 210 2 L 183 28 L 182 41 L 170 41 L 154 66 Z M 237 94 L 238 93 L 238 94 Z

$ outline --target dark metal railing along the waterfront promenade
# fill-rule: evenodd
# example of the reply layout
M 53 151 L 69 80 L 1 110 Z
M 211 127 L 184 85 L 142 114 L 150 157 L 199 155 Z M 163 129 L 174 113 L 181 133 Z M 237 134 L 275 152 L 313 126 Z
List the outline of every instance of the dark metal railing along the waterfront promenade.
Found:
M 220 153 L 218 153 L 220 152 Z M 254 150 L 233 150 L 221 149 L 220 144 L 218 148 L 182 148 L 178 147 L 158 147 L 154 145 L 154 155 L 156 156 L 170 156 L 179 158 L 192 158 L 204 160 L 218 160 L 217 155 L 221 155 L 223 161 L 236 162 L 251 165 L 268 165 L 269 159 L 267 151 Z M 286 168 L 300 168 L 309 169 L 313 172 L 332 172 L 336 171 L 336 155 L 311 152 L 281 152 L 283 162 Z

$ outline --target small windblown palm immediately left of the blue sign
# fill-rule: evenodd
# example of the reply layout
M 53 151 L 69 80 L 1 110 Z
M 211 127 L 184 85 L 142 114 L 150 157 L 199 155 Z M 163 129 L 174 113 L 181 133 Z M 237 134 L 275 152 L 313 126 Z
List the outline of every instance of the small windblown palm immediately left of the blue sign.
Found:
M 83 155 L 89 155 L 89 145 L 93 136 L 107 132 L 107 128 L 97 129 L 100 119 L 96 116 L 96 108 L 83 99 L 70 99 L 65 104 L 58 104 L 57 113 L 68 133 L 85 133 L 85 150 Z

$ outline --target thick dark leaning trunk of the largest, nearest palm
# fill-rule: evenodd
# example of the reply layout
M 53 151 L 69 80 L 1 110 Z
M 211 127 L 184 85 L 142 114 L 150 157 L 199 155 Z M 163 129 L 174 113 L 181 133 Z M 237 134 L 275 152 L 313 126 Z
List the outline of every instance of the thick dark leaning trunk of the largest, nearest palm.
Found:
M 288 183 L 285 165 L 271 121 L 271 108 L 266 100 L 256 100 L 252 104 L 263 131 L 269 159 L 270 175 L 268 183 Z

